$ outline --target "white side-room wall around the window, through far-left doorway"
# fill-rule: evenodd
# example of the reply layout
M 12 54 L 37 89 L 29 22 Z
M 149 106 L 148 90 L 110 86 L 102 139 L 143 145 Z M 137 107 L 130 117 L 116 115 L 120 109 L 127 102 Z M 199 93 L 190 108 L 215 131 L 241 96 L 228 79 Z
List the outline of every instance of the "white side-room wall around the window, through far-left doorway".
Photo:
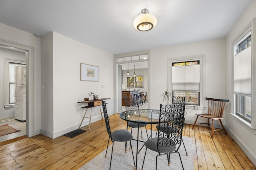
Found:
M 13 59 L 19 61 L 26 61 L 25 52 L 15 51 L 0 47 L 0 119 L 8 119 L 14 117 L 14 107 L 4 107 L 4 73 L 5 73 L 5 59 Z

